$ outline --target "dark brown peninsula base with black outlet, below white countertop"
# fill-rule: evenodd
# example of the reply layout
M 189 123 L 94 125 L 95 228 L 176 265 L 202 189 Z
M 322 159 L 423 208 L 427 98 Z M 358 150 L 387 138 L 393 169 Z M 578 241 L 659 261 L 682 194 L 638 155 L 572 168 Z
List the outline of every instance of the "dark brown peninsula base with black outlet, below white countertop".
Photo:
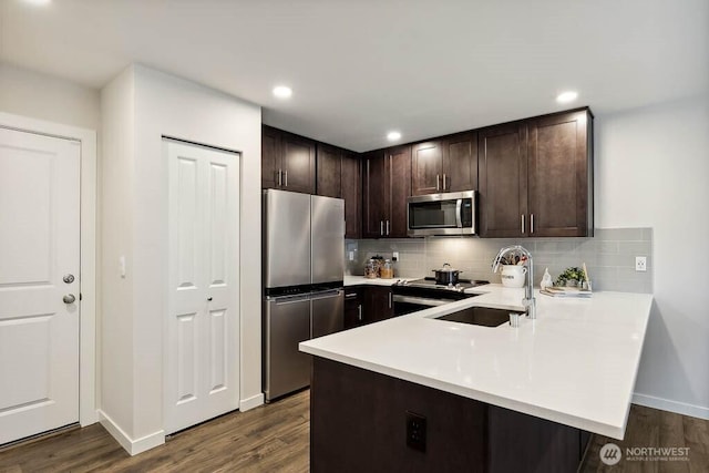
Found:
M 411 414 L 425 419 L 423 451 L 408 445 Z M 314 357 L 314 473 L 574 472 L 587 441 L 578 429 Z

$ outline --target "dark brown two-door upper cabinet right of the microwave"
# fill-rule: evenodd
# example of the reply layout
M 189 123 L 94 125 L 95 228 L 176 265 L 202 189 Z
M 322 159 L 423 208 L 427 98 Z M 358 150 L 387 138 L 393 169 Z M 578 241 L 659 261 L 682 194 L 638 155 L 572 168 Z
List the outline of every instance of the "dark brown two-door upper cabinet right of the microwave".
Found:
M 480 236 L 593 236 L 588 109 L 477 132 Z

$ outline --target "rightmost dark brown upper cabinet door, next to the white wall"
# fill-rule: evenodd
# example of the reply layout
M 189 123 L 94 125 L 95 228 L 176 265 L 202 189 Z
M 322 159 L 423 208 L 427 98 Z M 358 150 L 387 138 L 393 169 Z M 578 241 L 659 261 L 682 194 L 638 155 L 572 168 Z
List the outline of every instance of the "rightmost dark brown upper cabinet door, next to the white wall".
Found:
M 532 236 L 587 236 L 593 228 L 592 158 L 586 111 L 530 121 L 530 232 Z

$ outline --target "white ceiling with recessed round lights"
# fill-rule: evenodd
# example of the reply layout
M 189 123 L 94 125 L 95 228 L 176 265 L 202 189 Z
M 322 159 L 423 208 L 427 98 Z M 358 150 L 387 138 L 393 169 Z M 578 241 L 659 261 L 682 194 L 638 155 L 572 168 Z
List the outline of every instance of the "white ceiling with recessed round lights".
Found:
M 0 0 L 0 59 L 100 89 L 140 62 L 354 151 L 707 93 L 707 0 Z M 294 96 L 271 96 L 276 84 Z M 579 99 L 557 105 L 575 89 Z

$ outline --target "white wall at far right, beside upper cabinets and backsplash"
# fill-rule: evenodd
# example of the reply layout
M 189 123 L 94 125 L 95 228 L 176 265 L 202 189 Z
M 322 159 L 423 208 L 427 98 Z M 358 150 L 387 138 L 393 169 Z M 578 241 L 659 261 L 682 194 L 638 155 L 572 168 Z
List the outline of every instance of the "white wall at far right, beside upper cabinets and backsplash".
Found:
M 709 418 L 709 96 L 596 117 L 596 226 L 653 227 L 638 403 Z

